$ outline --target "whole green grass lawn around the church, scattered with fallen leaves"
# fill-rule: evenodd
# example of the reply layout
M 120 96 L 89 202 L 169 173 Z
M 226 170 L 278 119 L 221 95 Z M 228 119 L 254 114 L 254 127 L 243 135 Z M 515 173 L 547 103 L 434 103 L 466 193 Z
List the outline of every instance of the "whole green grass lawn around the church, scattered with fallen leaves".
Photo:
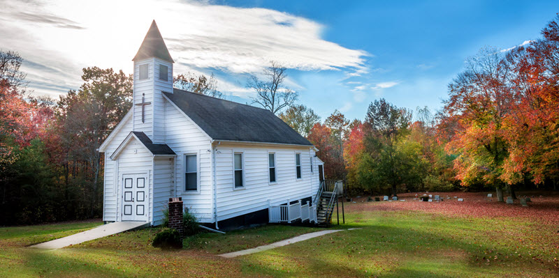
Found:
M 444 211 L 450 202 L 440 205 Z M 180 251 L 163 252 L 150 246 L 158 228 L 55 251 L 24 246 L 96 224 L 0 228 L 0 277 L 559 277 L 556 222 L 451 215 L 411 206 L 417 204 L 350 203 L 347 224 L 331 229 L 359 230 L 237 258 L 215 254 L 319 229 L 269 225 L 226 235 L 203 233 L 184 240 Z

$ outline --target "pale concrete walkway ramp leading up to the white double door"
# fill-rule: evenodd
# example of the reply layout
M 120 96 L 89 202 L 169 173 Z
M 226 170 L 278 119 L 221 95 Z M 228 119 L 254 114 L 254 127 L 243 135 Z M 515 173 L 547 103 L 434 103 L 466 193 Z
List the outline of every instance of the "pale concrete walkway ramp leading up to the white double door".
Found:
M 107 235 L 114 235 L 115 233 L 122 233 L 124 231 L 140 229 L 147 226 L 150 226 L 150 222 L 112 222 L 81 233 L 68 235 L 65 238 L 39 243 L 29 248 L 59 249 L 69 245 L 77 245 L 89 240 L 95 240 L 97 238 L 104 238 Z

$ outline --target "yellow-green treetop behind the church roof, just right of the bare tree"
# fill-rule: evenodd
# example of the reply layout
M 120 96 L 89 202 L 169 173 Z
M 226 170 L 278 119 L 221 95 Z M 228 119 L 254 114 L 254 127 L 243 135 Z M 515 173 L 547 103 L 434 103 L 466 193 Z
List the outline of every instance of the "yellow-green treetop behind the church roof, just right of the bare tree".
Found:
M 303 137 L 307 137 L 314 124 L 320 121 L 320 116 L 305 105 L 293 105 L 282 111 L 279 118 Z

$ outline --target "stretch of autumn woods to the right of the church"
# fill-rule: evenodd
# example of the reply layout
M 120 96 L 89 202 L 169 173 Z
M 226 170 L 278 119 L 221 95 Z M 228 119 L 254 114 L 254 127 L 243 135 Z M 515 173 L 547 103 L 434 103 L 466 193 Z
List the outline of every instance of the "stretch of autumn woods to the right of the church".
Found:
M 527 45 L 467 59 L 435 114 L 381 99 L 363 121 L 335 111 L 321 123 L 307 107 L 280 117 L 319 148 L 326 178 L 354 192 L 496 190 L 502 201 L 503 190 L 558 190 L 558 22 Z

